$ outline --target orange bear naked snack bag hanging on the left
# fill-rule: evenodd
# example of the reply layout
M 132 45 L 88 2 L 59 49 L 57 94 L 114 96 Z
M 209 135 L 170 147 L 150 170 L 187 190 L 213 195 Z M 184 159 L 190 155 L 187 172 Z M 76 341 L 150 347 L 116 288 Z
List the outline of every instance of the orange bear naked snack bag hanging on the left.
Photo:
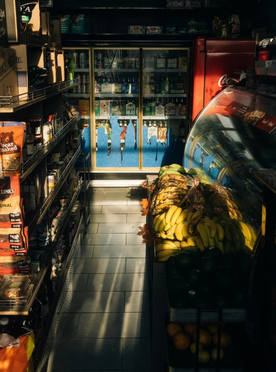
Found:
M 24 127 L 2 127 L 0 135 L 0 165 L 3 175 L 9 175 L 5 169 L 16 172 L 21 167 Z

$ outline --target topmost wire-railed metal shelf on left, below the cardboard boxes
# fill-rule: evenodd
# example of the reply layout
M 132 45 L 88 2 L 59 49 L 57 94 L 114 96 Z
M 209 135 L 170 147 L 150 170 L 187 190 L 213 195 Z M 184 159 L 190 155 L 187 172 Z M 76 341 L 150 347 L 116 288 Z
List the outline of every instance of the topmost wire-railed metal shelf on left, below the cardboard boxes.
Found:
M 47 98 L 56 96 L 59 93 L 65 92 L 68 89 L 76 87 L 80 84 L 78 79 L 63 81 L 62 83 L 53 84 L 49 87 L 19 94 L 18 96 L 0 96 L 0 112 L 11 113 L 19 111 L 25 107 L 31 106 L 34 103 L 43 101 Z

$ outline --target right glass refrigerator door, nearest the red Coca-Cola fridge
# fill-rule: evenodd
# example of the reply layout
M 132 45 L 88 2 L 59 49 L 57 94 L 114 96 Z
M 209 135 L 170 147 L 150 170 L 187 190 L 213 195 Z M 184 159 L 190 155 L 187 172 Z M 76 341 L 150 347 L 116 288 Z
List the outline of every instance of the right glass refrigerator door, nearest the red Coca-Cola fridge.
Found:
M 143 49 L 143 168 L 182 163 L 188 61 L 188 49 Z

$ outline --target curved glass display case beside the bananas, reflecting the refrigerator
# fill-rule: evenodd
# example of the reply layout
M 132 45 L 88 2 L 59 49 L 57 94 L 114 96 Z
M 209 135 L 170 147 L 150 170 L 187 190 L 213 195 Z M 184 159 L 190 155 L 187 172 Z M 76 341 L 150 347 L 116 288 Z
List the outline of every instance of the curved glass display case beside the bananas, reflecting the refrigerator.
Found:
M 232 196 L 237 213 L 229 212 L 230 218 L 248 227 L 249 231 L 244 225 L 241 229 L 251 238 L 245 239 L 251 251 L 257 243 L 262 208 L 262 185 L 255 172 L 276 167 L 275 127 L 273 95 L 231 86 L 201 111 L 185 147 L 184 166 L 200 168 Z

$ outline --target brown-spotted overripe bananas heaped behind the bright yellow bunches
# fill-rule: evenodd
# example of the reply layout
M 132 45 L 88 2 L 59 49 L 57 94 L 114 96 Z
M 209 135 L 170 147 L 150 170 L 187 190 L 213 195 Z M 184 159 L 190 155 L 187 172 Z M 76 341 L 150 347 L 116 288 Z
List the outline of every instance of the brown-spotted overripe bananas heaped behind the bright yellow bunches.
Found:
M 171 206 L 180 205 L 187 191 L 186 177 L 181 174 L 164 174 L 158 178 L 151 195 L 152 214 L 158 215 L 167 211 Z

